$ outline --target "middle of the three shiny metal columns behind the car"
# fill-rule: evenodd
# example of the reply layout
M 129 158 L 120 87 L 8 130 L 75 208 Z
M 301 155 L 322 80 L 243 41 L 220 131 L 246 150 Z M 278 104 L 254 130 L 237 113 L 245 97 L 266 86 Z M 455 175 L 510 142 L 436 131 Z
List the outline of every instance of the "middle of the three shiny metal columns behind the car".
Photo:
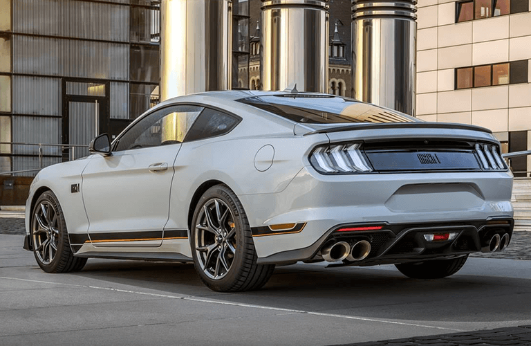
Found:
M 328 90 L 328 0 L 262 0 L 263 90 Z

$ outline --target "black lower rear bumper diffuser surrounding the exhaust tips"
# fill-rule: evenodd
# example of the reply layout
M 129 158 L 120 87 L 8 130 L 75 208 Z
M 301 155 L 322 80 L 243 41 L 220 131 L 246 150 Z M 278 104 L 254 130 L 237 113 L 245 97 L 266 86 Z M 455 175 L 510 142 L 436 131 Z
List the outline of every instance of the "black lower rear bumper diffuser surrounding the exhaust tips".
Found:
M 342 224 L 328 230 L 323 237 L 307 248 L 283 251 L 258 259 L 259 264 L 287 264 L 297 261 L 319 261 L 320 250 L 333 242 L 355 244 L 366 240 L 371 252 L 361 261 L 332 264 L 332 266 L 373 266 L 460 257 L 481 251 L 494 234 L 507 233 L 512 238 L 514 219 L 512 217 L 490 217 L 478 221 L 453 221 L 429 224 L 382 224 L 381 230 L 337 232 L 340 228 L 371 226 L 370 224 Z M 424 235 L 433 233 L 458 233 L 456 238 L 439 242 L 428 242 Z M 510 240 L 509 240 L 510 242 Z

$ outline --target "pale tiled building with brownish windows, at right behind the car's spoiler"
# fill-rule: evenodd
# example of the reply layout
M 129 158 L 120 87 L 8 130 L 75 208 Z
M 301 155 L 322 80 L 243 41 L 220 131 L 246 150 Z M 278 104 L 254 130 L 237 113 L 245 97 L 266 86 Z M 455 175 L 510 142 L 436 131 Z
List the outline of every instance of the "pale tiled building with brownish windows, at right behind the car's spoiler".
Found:
M 419 0 L 418 118 L 487 127 L 503 152 L 531 149 L 530 8 L 529 0 Z M 530 164 L 512 159 L 516 176 Z

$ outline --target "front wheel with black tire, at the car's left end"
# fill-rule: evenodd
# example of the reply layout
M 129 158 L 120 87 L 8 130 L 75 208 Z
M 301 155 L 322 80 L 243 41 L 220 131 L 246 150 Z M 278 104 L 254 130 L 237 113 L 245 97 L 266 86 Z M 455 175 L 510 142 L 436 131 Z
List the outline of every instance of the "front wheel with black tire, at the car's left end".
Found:
M 35 202 L 30 232 L 33 255 L 46 273 L 80 271 L 86 264 L 86 258 L 72 253 L 63 210 L 53 192 L 44 192 Z

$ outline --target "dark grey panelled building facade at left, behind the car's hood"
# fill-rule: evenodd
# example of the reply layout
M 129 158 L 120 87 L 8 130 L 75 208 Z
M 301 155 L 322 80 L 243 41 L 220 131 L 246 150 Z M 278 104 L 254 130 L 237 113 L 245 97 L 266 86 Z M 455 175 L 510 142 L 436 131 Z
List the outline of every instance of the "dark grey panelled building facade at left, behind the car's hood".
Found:
M 0 141 L 88 145 L 156 104 L 159 2 L 0 0 Z M 40 163 L 38 146 L 0 145 L 0 170 L 72 154 L 53 146 L 41 153 Z

